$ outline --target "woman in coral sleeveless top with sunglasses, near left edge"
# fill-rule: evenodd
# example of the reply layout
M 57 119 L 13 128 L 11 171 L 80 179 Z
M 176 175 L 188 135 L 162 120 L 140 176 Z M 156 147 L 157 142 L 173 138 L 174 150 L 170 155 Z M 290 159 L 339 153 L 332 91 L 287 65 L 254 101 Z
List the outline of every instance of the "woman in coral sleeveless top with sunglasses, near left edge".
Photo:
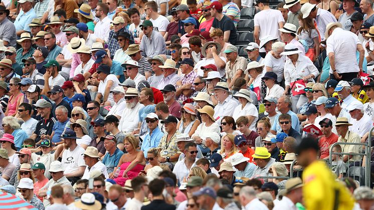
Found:
M 18 84 L 21 82 L 20 78 L 12 78 L 9 82 L 9 92 L 12 94 L 8 102 L 7 111 L 4 113 L 5 116 L 16 116 L 18 112 L 18 107 L 21 104 L 21 98 L 24 95 L 21 93 L 21 87 Z

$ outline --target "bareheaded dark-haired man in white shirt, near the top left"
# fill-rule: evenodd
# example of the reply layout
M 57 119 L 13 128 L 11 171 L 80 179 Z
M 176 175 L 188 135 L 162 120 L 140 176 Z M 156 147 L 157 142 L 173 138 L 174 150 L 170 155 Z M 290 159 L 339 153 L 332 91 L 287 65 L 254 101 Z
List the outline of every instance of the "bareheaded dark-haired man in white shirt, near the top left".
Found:
M 111 20 L 108 18 L 109 7 L 107 4 L 99 3 L 97 4 L 95 10 L 95 17 L 99 19 L 99 21 L 95 25 L 94 35 L 98 38 L 104 40 L 104 42 L 108 43 L 109 41 L 109 31 Z

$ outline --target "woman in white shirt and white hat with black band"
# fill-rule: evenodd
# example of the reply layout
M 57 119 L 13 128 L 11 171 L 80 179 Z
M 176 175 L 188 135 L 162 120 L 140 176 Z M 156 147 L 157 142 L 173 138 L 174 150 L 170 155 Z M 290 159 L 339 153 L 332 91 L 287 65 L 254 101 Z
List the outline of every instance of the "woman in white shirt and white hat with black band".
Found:
M 302 79 L 304 83 L 314 82 L 313 78 L 316 78 L 319 74 L 318 69 L 314 66 L 313 62 L 306 56 L 300 54 L 301 51 L 297 49 L 296 45 L 286 45 L 284 52 L 281 55 L 289 58 L 284 64 L 284 80 L 285 80 L 285 91 L 284 95 L 288 93 L 288 90 L 295 89 L 296 86 L 291 84 L 296 80 Z M 292 99 L 292 111 L 297 113 L 300 106 L 308 102 L 308 98 L 301 94 L 293 96 Z

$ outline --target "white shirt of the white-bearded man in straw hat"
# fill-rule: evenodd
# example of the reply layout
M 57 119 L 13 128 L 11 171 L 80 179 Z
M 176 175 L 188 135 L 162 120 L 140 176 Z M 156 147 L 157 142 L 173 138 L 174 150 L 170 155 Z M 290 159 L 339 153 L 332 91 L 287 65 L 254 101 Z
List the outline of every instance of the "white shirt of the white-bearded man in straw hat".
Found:
M 119 120 L 118 129 L 125 133 L 134 131 L 134 128 L 138 127 L 139 110 L 143 107 L 144 105 L 140 103 L 137 103 L 132 109 L 128 109 L 126 107 L 121 114 L 121 120 Z

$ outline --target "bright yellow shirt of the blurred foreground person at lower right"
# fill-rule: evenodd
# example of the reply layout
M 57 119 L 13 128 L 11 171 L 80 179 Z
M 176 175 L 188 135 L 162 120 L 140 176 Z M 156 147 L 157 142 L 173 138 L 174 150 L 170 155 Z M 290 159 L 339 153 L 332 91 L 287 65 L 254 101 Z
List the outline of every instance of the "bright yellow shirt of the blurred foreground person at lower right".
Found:
M 338 210 L 352 209 L 352 196 L 348 189 L 335 179 L 335 174 L 322 161 L 315 161 L 305 168 L 303 193 L 306 209 L 334 209 L 334 205 L 338 205 Z M 335 203 L 336 193 L 338 201 Z

